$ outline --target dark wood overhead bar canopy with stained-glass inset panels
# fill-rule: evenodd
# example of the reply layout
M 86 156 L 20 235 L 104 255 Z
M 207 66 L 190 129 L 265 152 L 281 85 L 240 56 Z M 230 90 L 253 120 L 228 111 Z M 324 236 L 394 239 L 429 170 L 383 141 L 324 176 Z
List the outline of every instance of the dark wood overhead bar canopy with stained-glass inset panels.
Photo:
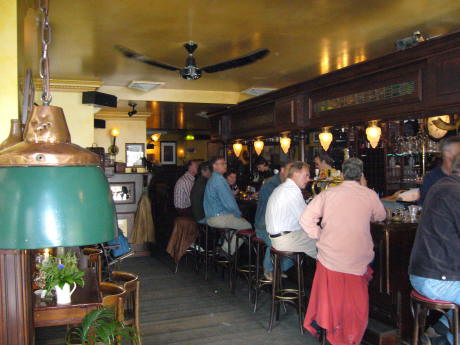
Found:
M 230 122 L 213 134 L 229 140 L 460 111 L 459 47 L 456 32 L 250 99 L 212 114 L 212 123 Z

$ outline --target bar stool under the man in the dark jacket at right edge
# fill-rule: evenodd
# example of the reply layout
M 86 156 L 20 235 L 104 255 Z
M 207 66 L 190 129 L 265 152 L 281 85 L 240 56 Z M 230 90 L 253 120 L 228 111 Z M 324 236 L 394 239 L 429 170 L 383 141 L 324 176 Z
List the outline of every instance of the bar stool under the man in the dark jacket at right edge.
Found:
M 436 310 L 447 318 L 450 332 L 454 336 L 454 345 L 458 345 L 458 305 L 452 302 L 427 298 L 415 290 L 412 290 L 410 300 L 412 313 L 414 315 L 414 334 L 412 338 L 412 345 L 418 344 L 420 330 L 423 332 L 425 329 L 426 317 L 430 310 Z M 452 310 L 454 314 L 453 317 L 449 316 L 449 310 Z

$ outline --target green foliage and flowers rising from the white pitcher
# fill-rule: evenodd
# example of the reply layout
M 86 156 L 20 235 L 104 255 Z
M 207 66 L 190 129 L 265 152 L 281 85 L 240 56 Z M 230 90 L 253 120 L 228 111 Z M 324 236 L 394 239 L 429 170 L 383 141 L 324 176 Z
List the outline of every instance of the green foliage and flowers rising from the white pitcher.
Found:
M 83 286 L 85 272 L 78 268 L 78 259 L 74 253 L 66 253 L 63 256 L 50 256 L 49 259 L 39 267 L 44 273 L 45 289 L 51 291 L 56 285 L 62 288 L 65 283 Z

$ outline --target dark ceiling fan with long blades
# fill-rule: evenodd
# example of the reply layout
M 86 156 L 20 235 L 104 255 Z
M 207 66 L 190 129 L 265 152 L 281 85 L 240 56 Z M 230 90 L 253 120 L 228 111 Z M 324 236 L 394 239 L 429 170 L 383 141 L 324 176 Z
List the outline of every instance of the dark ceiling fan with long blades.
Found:
M 179 71 L 181 77 L 187 80 L 199 79 L 201 77 L 201 72 L 215 73 L 215 72 L 225 71 L 230 68 L 236 68 L 236 67 L 248 65 L 259 59 L 262 59 L 270 52 L 270 50 L 265 49 L 265 48 L 258 49 L 254 52 L 237 57 L 235 59 L 231 59 L 231 60 L 223 61 L 223 62 L 214 64 L 214 65 L 199 68 L 196 65 L 195 57 L 193 56 L 193 52 L 196 50 L 196 48 L 198 48 L 198 44 L 196 44 L 193 41 L 189 41 L 184 44 L 184 48 L 187 50 L 188 56 L 185 60 L 185 67 L 181 68 L 181 67 L 168 65 L 163 62 L 152 60 L 151 58 L 145 55 L 136 53 L 135 51 L 129 48 L 123 47 L 121 45 L 115 46 L 115 49 L 117 49 L 120 53 L 122 53 L 127 58 L 146 63 L 147 65 L 150 65 L 150 66 L 164 68 L 169 71 Z

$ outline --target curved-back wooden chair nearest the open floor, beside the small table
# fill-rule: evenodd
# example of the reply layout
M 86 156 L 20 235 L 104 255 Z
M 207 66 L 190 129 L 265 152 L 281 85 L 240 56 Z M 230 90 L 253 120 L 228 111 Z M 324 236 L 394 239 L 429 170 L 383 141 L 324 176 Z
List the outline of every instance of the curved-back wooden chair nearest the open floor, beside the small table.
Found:
M 139 276 L 129 272 L 113 271 L 112 281 L 123 284 L 123 288 L 126 290 L 124 324 L 133 326 L 136 329 L 138 334 L 137 344 L 141 345 Z

